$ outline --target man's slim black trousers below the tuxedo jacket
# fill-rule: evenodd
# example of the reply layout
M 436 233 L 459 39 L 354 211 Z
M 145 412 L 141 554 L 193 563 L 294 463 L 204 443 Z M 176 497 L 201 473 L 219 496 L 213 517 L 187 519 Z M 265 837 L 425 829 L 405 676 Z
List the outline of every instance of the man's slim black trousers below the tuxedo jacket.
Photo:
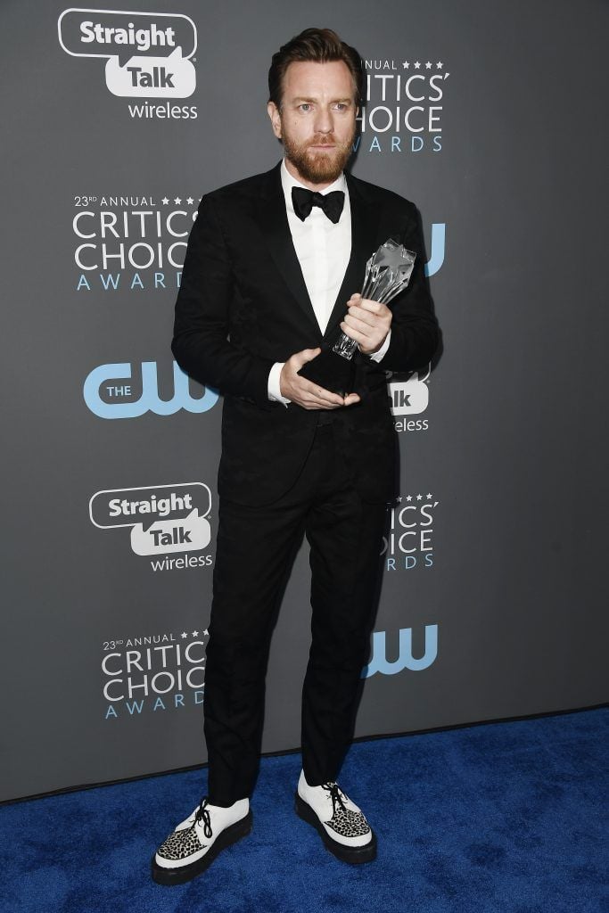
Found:
M 310 543 L 312 616 L 301 738 L 310 785 L 337 778 L 352 739 L 386 506 L 362 502 L 348 454 L 341 452 L 331 421 L 324 424 L 325 415 L 286 495 L 263 508 L 226 498 L 220 503 L 205 664 L 208 793 L 216 805 L 230 805 L 254 790 L 270 638 L 303 531 Z

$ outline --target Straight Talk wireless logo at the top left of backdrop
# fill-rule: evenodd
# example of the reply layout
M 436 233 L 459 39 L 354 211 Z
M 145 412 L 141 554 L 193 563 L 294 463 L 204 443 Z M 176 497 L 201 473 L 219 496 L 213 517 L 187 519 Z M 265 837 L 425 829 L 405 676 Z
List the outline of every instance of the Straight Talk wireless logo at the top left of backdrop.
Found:
M 179 13 L 71 7 L 58 18 L 71 57 L 105 59 L 106 86 L 121 98 L 187 99 L 196 87 L 196 27 Z M 132 118 L 196 118 L 194 105 L 130 104 Z

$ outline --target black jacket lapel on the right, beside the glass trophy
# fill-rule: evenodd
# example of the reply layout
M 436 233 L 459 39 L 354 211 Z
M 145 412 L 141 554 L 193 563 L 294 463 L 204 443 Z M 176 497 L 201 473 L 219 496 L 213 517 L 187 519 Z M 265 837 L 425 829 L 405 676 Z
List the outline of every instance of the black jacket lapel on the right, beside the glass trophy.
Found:
M 336 331 L 347 311 L 347 301 L 355 292 L 362 291 L 366 261 L 372 257 L 374 252 L 376 226 L 380 215 L 378 207 L 364 199 L 357 181 L 349 174 L 347 175 L 347 185 L 351 205 L 351 257 L 324 333 L 324 339 L 330 338 Z

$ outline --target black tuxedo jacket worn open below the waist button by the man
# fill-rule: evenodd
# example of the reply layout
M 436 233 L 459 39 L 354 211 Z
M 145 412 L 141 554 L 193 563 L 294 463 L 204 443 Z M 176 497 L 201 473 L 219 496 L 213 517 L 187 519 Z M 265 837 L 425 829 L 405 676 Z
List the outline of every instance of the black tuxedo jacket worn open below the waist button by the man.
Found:
M 268 373 L 294 352 L 333 341 L 346 302 L 362 289 L 366 260 L 389 237 L 416 254 L 410 285 L 392 302 L 391 344 L 382 362 L 357 353 L 360 404 L 324 415 L 339 436 L 345 475 L 362 498 L 395 492 L 396 437 L 385 371 L 424 367 L 437 325 L 415 206 L 347 176 L 352 253 L 325 334 L 315 319 L 289 232 L 279 166 L 201 200 L 175 306 L 173 354 L 184 371 L 225 397 L 218 490 L 259 506 L 281 497 L 309 453 L 320 413 L 268 400 Z

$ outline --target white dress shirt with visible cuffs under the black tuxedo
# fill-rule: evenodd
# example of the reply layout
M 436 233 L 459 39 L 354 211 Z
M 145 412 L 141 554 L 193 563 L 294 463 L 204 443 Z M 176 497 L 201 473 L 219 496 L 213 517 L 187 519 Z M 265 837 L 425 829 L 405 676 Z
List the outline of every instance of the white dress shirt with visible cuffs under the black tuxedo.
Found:
M 296 256 L 299 258 L 302 277 L 304 278 L 315 317 L 323 333 L 328 326 L 334 302 L 341 290 L 342 280 L 351 257 L 351 205 L 349 190 L 344 173 L 321 194 L 331 194 L 341 190 L 345 202 L 341 218 L 334 225 L 319 206 L 313 206 L 310 215 L 302 221 L 294 212 L 292 204 L 292 187 L 304 187 L 289 173 L 285 159 L 281 163 L 281 186 L 286 201 L 288 225 L 292 236 Z M 306 188 L 309 189 L 309 188 Z M 371 251 L 371 254 L 373 251 Z M 345 302 L 346 305 L 346 302 Z M 345 307 L 346 310 L 346 307 Z M 378 352 L 371 356 L 373 361 L 380 362 L 389 348 L 389 337 L 383 342 Z M 276 362 L 268 374 L 268 398 L 279 403 L 288 404 L 289 399 L 281 395 L 279 374 L 285 362 Z

